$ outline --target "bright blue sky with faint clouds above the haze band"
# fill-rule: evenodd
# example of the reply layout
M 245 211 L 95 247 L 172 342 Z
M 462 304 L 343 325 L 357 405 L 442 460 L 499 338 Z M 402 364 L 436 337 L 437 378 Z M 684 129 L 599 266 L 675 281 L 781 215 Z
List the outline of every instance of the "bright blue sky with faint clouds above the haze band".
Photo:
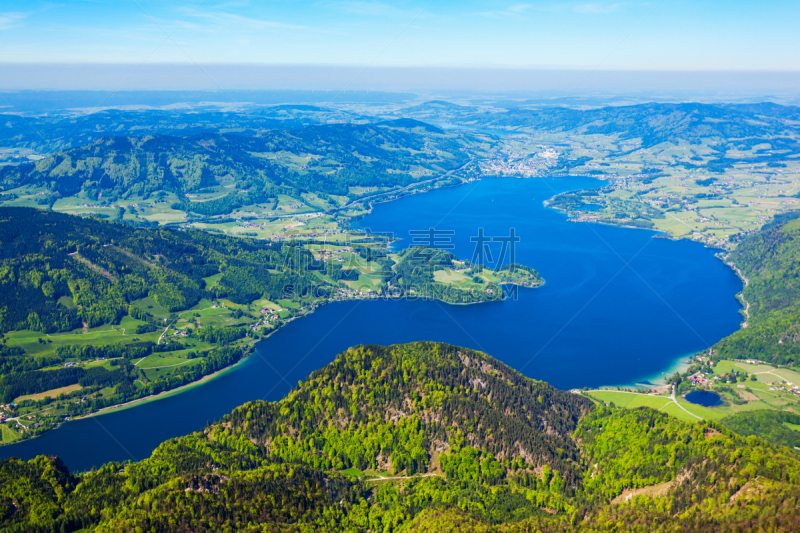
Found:
M 0 63 L 800 70 L 800 2 L 0 3 Z

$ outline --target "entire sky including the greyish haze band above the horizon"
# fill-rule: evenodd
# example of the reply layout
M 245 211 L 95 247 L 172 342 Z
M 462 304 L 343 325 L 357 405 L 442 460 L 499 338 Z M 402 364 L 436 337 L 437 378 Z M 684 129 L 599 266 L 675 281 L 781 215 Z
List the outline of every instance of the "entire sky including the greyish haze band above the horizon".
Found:
M 800 93 L 800 4 L 9 0 L 0 91 Z

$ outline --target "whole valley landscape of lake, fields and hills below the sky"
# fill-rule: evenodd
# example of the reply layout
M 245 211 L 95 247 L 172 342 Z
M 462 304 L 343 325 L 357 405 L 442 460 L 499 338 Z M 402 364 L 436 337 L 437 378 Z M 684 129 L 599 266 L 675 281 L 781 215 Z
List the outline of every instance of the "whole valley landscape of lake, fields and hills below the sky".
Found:
M 3 527 L 793 527 L 794 108 L 371 111 L 3 138 Z

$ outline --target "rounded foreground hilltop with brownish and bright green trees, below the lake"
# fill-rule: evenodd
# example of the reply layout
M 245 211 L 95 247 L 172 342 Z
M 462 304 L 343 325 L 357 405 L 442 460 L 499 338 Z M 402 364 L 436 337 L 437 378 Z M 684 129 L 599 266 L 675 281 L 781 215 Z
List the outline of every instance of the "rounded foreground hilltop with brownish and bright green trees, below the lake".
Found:
M 409 474 L 457 469 L 434 461 L 469 446 L 490 461 L 549 465 L 571 492 L 580 483 L 580 456 L 570 435 L 590 407 L 472 350 L 362 346 L 314 372 L 279 404 L 235 410 L 221 438 L 246 438 L 285 461 L 323 469 Z M 502 467 L 495 468 L 499 475 Z

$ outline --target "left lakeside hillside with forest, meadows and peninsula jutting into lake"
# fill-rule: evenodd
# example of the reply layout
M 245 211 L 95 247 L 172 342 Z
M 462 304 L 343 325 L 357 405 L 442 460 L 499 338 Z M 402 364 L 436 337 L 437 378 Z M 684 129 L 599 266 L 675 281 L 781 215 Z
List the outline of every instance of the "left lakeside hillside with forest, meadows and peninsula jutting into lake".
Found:
M 366 236 L 350 251 L 321 250 L 14 207 L 0 207 L 0 235 L 0 403 L 15 404 L 2 441 L 229 367 L 318 305 L 389 287 L 395 297 L 498 301 L 498 283 L 542 283 L 529 267 L 481 273 L 428 248 L 397 258 Z M 456 268 L 478 281 L 436 281 Z

